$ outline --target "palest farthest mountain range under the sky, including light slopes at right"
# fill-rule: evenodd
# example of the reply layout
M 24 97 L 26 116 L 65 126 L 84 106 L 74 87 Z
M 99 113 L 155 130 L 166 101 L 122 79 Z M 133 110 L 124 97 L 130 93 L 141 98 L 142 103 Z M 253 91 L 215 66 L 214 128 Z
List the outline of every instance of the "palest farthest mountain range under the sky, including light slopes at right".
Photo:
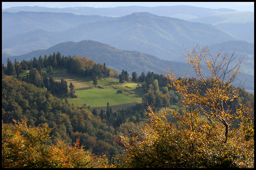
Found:
M 134 12 L 149 12 L 151 14 L 179 18 L 191 22 L 212 24 L 213 26 L 231 33 L 239 40 L 254 42 L 254 13 L 236 11 L 233 9 L 210 9 L 195 6 L 118 6 L 115 8 L 46 8 L 39 6 L 21 6 L 3 9 L 2 12 L 58 12 L 81 15 L 101 15 L 122 17 Z

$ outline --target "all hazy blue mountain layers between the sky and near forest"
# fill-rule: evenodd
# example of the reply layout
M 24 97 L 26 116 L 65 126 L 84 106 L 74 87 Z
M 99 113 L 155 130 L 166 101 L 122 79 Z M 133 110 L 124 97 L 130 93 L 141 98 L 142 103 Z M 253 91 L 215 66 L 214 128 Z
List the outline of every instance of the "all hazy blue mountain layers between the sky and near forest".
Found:
M 84 40 L 93 41 L 89 43 Z M 95 45 L 99 42 L 101 44 Z M 103 51 L 99 54 L 104 54 L 105 57 L 110 55 L 111 57 L 108 59 L 116 61 L 113 69 L 118 71 L 125 68 L 122 61 L 131 60 L 129 56 L 140 56 L 145 61 L 154 60 L 144 68 L 144 63 L 136 63 L 136 60 L 131 60 L 140 65 L 138 68 L 141 69 L 137 71 L 131 67 L 133 62 L 129 63 L 131 71 L 136 72 L 153 71 L 161 65 L 161 69 L 165 69 L 163 63 L 178 65 L 176 62 L 185 62 L 181 53 L 184 48 L 189 48 L 189 45 L 199 44 L 200 47 L 209 45 L 216 51 L 219 50 L 218 48 L 229 49 L 227 50 L 229 52 L 236 50 L 239 52 L 239 57 L 244 58 L 242 73 L 248 74 L 249 77 L 253 76 L 250 79 L 254 81 L 254 14 L 250 12 L 192 6 L 116 8 L 44 8 L 34 6 L 2 10 L 2 63 L 6 63 L 7 57 L 20 60 L 22 57 L 34 55 L 38 58 L 38 51 L 30 52 L 39 49 L 47 49 L 41 50 L 42 57 L 45 54 L 49 55 L 59 51 L 64 56 L 86 55 L 96 62 L 98 59 L 101 61 L 101 56 L 96 53 L 97 48 L 88 48 L 86 46 L 88 44 L 94 44 L 93 47 L 109 49 L 107 52 L 105 51 L 105 54 Z M 80 53 L 81 50 L 79 51 L 75 45 L 80 45 L 80 49 L 84 49 L 84 53 Z M 107 47 L 107 45 L 110 46 Z M 68 48 L 69 46 L 72 48 Z M 113 47 L 118 49 L 113 50 Z M 134 55 L 135 53 L 136 55 Z M 26 55 L 18 56 L 21 54 Z M 93 55 L 90 56 L 90 54 Z M 122 59 L 120 56 L 126 59 Z M 166 60 L 174 62 L 169 63 Z M 117 68 L 117 61 L 119 68 Z M 108 60 L 106 64 L 107 62 Z M 159 64 L 154 67 L 154 62 Z M 152 69 L 147 69 L 148 67 Z M 128 70 L 129 67 L 126 65 L 125 69 Z M 158 71 L 160 72 L 161 69 L 158 68 Z M 161 73 L 165 72 L 161 71 Z

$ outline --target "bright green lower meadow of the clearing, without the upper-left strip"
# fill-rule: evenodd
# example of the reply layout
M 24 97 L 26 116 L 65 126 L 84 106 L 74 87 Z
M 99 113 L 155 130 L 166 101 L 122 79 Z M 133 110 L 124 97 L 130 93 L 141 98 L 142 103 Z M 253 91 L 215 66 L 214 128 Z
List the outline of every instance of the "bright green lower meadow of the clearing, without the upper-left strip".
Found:
M 106 79 L 110 79 L 110 78 L 106 78 Z M 75 82 L 73 80 L 69 80 L 69 81 L 72 81 L 72 83 Z M 81 106 L 84 103 L 86 103 L 91 107 L 106 106 L 107 102 L 110 105 L 142 102 L 142 95 L 145 92 L 143 90 L 137 90 L 136 83 L 117 84 L 117 82 L 115 83 L 113 81 L 110 81 L 110 83 L 106 83 L 106 82 L 101 83 L 101 86 L 104 87 L 104 89 L 91 86 L 90 84 L 85 84 L 84 82 L 76 82 L 76 84 L 80 87 L 80 89 L 76 90 L 76 95 L 78 95 L 78 98 L 68 98 L 67 100 L 69 103 L 73 103 L 74 105 L 77 105 L 77 106 Z M 86 87 L 82 87 L 84 86 L 84 84 Z M 128 84 L 132 86 L 131 87 L 129 86 L 130 88 L 125 87 L 125 85 L 128 85 Z M 123 93 L 119 93 L 118 90 L 123 90 Z

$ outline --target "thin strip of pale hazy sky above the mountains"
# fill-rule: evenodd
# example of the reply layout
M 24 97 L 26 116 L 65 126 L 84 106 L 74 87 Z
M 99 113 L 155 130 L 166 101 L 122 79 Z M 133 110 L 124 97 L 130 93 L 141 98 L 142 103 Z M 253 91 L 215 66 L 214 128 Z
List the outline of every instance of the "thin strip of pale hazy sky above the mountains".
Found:
M 42 6 L 49 8 L 94 7 L 110 8 L 117 6 L 174 6 L 190 5 L 211 9 L 229 8 L 237 11 L 254 12 L 254 2 L 2 2 L 2 9 L 13 6 Z

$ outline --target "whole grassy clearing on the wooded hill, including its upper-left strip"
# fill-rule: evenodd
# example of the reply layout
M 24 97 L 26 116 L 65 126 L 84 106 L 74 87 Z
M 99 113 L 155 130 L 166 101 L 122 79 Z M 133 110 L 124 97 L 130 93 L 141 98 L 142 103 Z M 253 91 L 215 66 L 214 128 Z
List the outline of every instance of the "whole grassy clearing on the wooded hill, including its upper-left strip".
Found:
M 116 78 L 102 77 L 98 79 L 98 86 L 104 88 L 101 89 L 93 85 L 90 77 L 78 77 L 58 68 L 53 69 L 53 74 L 54 80 L 60 81 L 63 78 L 67 81 L 68 86 L 70 82 L 75 86 L 75 94 L 78 95 L 78 98 L 67 98 L 67 101 L 75 106 L 82 106 L 84 103 L 91 107 L 106 106 L 107 102 L 110 105 L 141 103 L 142 95 L 145 94 L 144 90 L 136 89 L 138 83 L 120 84 Z M 118 90 L 122 90 L 122 93 L 119 93 Z

